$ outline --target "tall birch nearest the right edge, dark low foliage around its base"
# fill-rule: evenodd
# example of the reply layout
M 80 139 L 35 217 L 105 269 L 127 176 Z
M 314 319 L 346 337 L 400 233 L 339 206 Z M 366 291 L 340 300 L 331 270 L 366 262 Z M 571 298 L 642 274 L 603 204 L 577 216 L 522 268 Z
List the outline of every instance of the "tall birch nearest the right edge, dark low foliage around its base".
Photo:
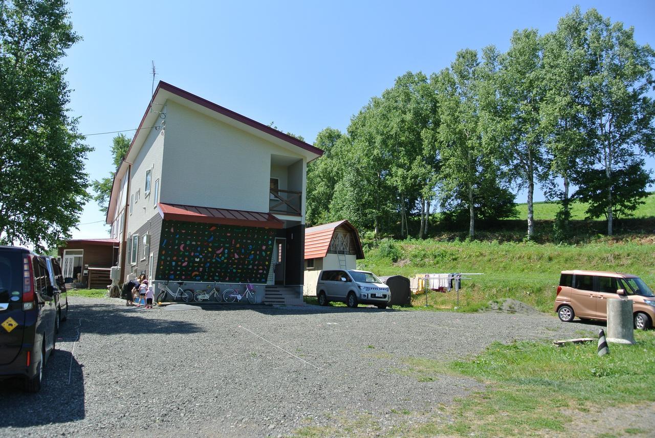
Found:
M 588 65 L 582 81 L 584 133 L 593 144 L 593 158 L 584 163 L 592 171 L 576 178 L 576 194 L 581 199 L 595 199 L 589 205 L 591 217 L 598 217 L 599 206 L 603 206 L 607 234 L 612 235 L 615 212 L 630 211 L 628 206 L 643 195 L 645 188 L 635 184 L 646 184 L 648 180 L 643 160 L 636 157 L 655 154 L 655 104 L 648 95 L 654 84 L 655 52 L 648 44 L 635 42 L 632 27 L 625 29 L 620 22 L 612 23 L 595 9 L 588 10 L 576 23 L 584 29 Z M 628 169 L 634 177 L 627 175 Z M 616 171 L 621 172 L 624 186 L 615 177 Z M 633 190 L 621 190 L 627 187 Z M 602 195 L 597 192 L 600 188 Z M 604 199 L 602 203 L 598 196 Z

